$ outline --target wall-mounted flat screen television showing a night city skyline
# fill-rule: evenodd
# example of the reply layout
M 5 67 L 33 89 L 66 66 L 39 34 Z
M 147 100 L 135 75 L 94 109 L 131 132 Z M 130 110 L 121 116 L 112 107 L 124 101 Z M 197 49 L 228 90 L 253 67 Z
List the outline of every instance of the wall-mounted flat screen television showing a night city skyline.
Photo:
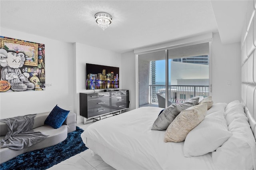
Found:
M 86 63 L 86 89 L 116 89 L 119 78 L 119 67 Z

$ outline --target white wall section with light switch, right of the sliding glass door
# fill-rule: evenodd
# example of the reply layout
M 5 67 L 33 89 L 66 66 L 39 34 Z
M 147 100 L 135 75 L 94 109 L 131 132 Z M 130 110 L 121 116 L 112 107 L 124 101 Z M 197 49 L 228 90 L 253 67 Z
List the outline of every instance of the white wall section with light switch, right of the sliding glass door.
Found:
M 215 103 L 240 100 L 240 42 L 223 45 L 218 33 L 212 40 L 212 99 Z M 227 85 L 227 81 L 231 85 Z

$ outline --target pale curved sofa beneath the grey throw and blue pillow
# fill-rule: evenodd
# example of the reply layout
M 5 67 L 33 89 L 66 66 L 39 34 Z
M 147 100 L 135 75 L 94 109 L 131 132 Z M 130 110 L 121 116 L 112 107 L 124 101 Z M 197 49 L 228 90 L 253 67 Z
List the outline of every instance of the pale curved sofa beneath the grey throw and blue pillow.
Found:
M 49 136 L 28 148 L 23 148 L 22 150 L 13 150 L 10 148 L 0 148 L 0 164 L 6 162 L 20 154 L 25 152 L 29 152 L 32 150 L 42 149 L 49 146 L 53 146 L 65 140 L 68 136 L 69 132 L 76 130 L 76 114 L 74 112 L 68 113 L 68 117 L 62 124 L 60 128 L 52 128 L 49 125 L 44 125 L 45 119 L 48 117 L 50 112 L 46 113 L 38 113 L 36 117 L 34 117 L 34 131 L 40 131 L 44 134 L 48 134 Z M 7 125 L 5 123 L 0 122 L 0 140 L 4 138 L 7 133 Z

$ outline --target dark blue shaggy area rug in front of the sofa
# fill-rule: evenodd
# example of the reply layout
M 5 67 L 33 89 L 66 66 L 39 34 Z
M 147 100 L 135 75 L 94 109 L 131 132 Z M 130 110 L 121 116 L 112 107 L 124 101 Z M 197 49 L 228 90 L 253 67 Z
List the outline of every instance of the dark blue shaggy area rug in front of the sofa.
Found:
M 84 130 L 76 127 L 76 131 L 68 133 L 63 142 L 44 149 L 20 154 L 0 164 L 1 170 L 45 170 L 63 160 L 88 149 L 81 138 Z

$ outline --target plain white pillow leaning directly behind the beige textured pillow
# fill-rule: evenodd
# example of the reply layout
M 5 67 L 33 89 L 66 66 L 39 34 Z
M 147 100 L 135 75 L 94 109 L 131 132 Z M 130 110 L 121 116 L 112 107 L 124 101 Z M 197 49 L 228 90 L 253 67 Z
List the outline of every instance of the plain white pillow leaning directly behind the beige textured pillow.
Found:
M 188 133 L 184 142 L 184 156 L 200 156 L 212 152 L 230 136 L 232 133 L 228 131 L 223 108 L 223 111 L 206 115 L 204 120 Z

